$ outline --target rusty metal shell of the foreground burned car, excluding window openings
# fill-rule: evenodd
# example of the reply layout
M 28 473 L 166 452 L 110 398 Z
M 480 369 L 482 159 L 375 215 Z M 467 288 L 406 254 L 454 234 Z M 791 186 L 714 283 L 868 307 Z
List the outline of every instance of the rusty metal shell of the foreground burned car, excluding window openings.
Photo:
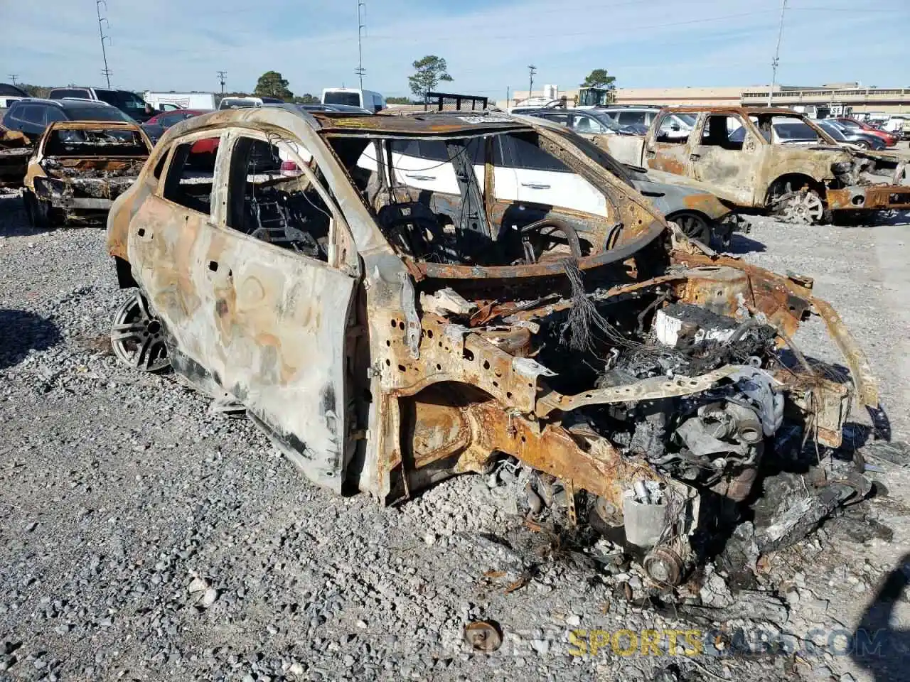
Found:
M 153 170 L 168 177 L 178 154 L 172 150 L 212 135 L 221 135 L 221 142 L 211 216 L 203 216 L 164 198 L 161 186 L 166 183 Z M 535 135 L 541 148 L 609 196 L 608 219 L 589 216 L 585 236 L 594 245 L 589 253 L 499 265 L 403 253 L 389 241 L 392 233 L 380 227 L 377 215 L 383 215 L 382 208 L 398 209 L 396 196 L 405 188 L 385 186 L 389 178 L 379 173 L 370 180 L 369 186 L 379 185 L 370 198 L 349 175 L 361 152 L 379 150 L 374 158 L 381 158 L 389 140 L 444 139 L 451 145 L 479 140 L 489 149 L 495 135 Z M 308 164 L 319 169 L 325 187 L 316 191 L 333 225 L 325 262 L 227 228 L 227 150 L 238 145 L 239 137 L 258 138 L 295 157 L 310 188 L 319 183 Z M 298 154 L 301 145 L 311 161 Z M 470 215 L 461 216 L 469 221 L 467 229 L 514 208 L 491 201 L 495 174 L 489 172 L 490 155 L 486 158 L 481 204 L 471 204 Z M 477 195 L 476 178 L 462 174 L 460 181 L 467 186 L 464 201 L 470 203 L 470 196 Z M 409 212 L 419 212 L 417 203 L 405 203 Z M 378 209 L 380 204 L 384 206 Z M 450 201 L 434 206 L 450 206 Z M 412 213 L 404 223 L 400 212 L 396 215 L 396 225 L 412 226 Z M 562 219 L 563 227 L 569 220 L 571 216 Z M 622 227 L 614 237 L 617 226 Z M 459 229 L 457 223 L 439 238 Z M 830 306 L 814 298 L 810 280 L 775 275 L 696 246 L 667 226 L 632 187 L 572 146 L 566 135 L 509 117 L 428 121 L 268 108 L 199 116 L 167 132 L 136 184 L 116 200 L 107 244 L 121 286 L 138 286 L 143 305 L 147 302 L 164 327 L 177 373 L 211 396 L 242 404 L 314 482 L 337 492 L 347 482 L 391 502 L 446 476 L 483 471 L 501 456 L 514 456 L 560 480 L 571 493 L 573 509 L 575 493 L 596 496 L 601 516 L 624 522 L 628 539 L 649 550 L 645 566 L 663 582 L 677 581 L 694 560 L 690 537 L 706 521 L 699 512 L 703 494 L 742 500 L 754 470 L 748 462 L 729 468 L 718 463 L 720 477 L 702 493 L 668 474 L 655 463 L 660 458 L 649 460 L 628 443 L 613 442 L 591 415 L 625 419 L 642 408 L 651 416 L 627 422 L 636 429 L 652 420 L 653 408 L 662 401 L 700 400 L 717 390 L 733 397 L 742 386 L 753 386 L 756 396 L 762 393 L 756 400 L 766 410 L 758 403 L 747 408 L 723 403 L 723 398 L 710 408 L 700 403 L 702 416 L 692 412 L 685 429 L 693 448 L 702 449 L 707 442 L 698 421 L 713 418 L 704 416 L 705 410 L 727 407 L 733 421 L 725 423 L 735 423 L 734 431 L 753 444 L 762 439 L 762 429 L 773 433 L 785 410 L 820 442 L 837 446 L 852 391 L 808 366 L 769 362 L 766 371 L 752 361 L 721 362 L 710 371 L 693 370 L 691 376 L 685 370 L 659 370 L 631 381 L 598 381 L 597 386 L 591 381 L 581 391 L 560 391 L 554 386 L 575 386 L 571 372 L 561 374 L 545 363 L 571 367 L 573 356 L 581 358 L 582 352 L 556 341 L 534 347 L 544 328 L 556 336 L 560 328 L 565 333 L 563 323 L 571 322 L 573 310 L 585 302 L 602 310 L 627 309 L 632 325 L 637 317 L 640 327 L 660 309 L 662 330 L 655 331 L 659 325 L 653 322 L 652 332 L 641 339 L 656 335 L 669 343 L 672 336 L 682 336 L 682 318 L 698 308 L 711 320 L 705 325 L 721 324 L 740 339 L 762 327 L 783 345 L 800 321 L 815 313 L 843 351 L 860 400 L 877 405 L 875 379 L 862 352 Z M 600 246 L 606 244 L 610 247 Z M 576 286 L 582 279 L 583 292 Z M 570 282 L 571 295 L 562 296 L 559 291 Z M 671 300 L 672 311 L 662 308 Z M 597 324 L 613 329 L 611 323 Z M 119 333 L 129 330 L 115 328 Z M 635 362 L 642 348 L 678 359 L 677 350 L 652 346 L 651 340 L 618 343 L 635 349 Z M 759 358 L 757 364 L 762 363 Z M 627 371 L 633 371 L 631 365 L 610 378 Z M 740 416 L 733 418 L 733 412 Z M 658 422 L 663 419 L 665 425 L 667 418 L 661 414 L 648 422 L 658 431 Z M 713 433 L 714 440 L 726 437 Z M 746 459 L 760 456 L 760 447 L 739 441 L 721 447 L 748 451 Z M 652 490 L 653 504 L 643 512 L 641 507 L 648 505 L 631 497 L 641 489 Z

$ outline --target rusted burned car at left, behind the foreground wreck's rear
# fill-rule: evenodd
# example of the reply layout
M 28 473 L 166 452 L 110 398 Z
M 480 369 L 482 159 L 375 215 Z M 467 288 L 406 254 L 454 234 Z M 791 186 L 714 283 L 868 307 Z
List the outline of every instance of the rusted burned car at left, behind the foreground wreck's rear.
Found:
M 57 121 L 25 172 L 25 208 L 35 226 L 103 222 L 139 175 L 152 145 L 135 124 Z

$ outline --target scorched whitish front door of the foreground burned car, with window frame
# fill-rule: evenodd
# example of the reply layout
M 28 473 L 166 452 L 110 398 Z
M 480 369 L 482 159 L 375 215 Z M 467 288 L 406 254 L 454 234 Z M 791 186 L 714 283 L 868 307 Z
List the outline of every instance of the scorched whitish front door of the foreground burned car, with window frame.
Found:
M 340 493 L 353 443 L 349 331 L 359 259 L 312 156 L 292 133 L 281 137 L 291 143 L 238 129 L 219 147 L 226 156 L 216 184 L 226 201 L 195 265 L 210 335 L 205 361 L 306 476 Z M 279 191 L 282 156 L 300 174 Z

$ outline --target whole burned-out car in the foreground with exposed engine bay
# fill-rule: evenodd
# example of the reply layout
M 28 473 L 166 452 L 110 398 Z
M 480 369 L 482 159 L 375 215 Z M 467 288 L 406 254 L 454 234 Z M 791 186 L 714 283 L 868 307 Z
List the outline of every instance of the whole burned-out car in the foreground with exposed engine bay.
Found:
M 212 138 L 214 164 L 194 160 Z M 800 322 L 824 318 L 868 405 L 875 379 L 810 280 L 689 241 L 575 139 L 489 115 L 176 125 L 108 217 L 138 287 L 116 354 L 245 409 L 337 492 L 388 503 L 515 457 L 675 582 L 784 422 L 841 442 L 854 388 L 778 355 Z M 394 149 L 415 143 L 445 145 L 457 194 L 399 182 Z M 597 188 L 604 215 L 501 198 L 499 164 L 525 145 Z

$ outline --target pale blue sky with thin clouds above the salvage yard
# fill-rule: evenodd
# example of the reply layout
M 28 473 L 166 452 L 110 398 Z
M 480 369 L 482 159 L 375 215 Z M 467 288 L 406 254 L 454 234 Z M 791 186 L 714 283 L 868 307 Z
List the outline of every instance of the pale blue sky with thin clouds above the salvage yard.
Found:
M 452 91 L 570 88 L 593 68 L 627 87 L 771 79 L 780 0 L 366 0 L 364 86 L 405 95 L 440 55 Z M 104 11 L 104 5 L 102 5 Z M 0 0 L 0 80 L 103 85 L 94 0 Z M 357 0 L 107 0 L 112 85 L 251 90 L 274 69 L 296 94 L 356 85 Z M 10 30 L 12 29 L 12 30 Z M 910 85 L 910 2 L 788 0 L 778 82 Z

